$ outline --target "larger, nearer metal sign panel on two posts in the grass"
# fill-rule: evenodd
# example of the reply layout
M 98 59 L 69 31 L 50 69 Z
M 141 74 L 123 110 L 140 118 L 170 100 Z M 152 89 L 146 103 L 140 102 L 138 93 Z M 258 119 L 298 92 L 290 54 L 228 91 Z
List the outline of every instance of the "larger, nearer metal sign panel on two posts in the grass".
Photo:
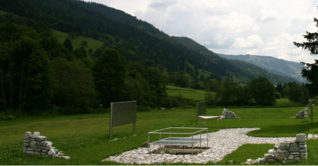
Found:
M 110 103 L 110 139 L 112 128 L 133 124 L 133 132 L 136 134 L 137 101 L 125 101 Z

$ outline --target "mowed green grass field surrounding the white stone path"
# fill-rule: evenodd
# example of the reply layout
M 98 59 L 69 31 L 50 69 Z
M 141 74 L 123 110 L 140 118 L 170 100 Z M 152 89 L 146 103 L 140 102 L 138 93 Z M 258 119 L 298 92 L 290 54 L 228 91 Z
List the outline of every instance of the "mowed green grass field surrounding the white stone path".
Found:
M 303 108 L 233 108 L 229 109 L 240 119 L 208 120 L 209 132 L 218 129 L 260 127 L 249 132 L 249 136 L 296 136 L 296 134 L 318 134 L 318 118 L 314 122 L 308 119 L 290 119 Z M 314 107 L 314 115 L 318 115 Z M 207 115 L 222 115 L 223 108 L 208 108 Z M 120 165 L 117 162 L 101 162 L 112 155 L 118 155 L 141 147 L 148 140 L 148 132 L 166 127 L 198 127 L 195 108 L 176 108 L 175 110 L 153 110 L 138 112 L 136 136 L 133 136 L 132 125 L 114 127 L 110 141 L 110 113 L 90 115 L 63 115 L 49 117 L 23 117 L 15 121 L 0 122 L 0 164 L 1 165 Z M 40 132 L 47 136 L 54 147 L 63 151 L 70 160 L 23 156 L 23 138 L 25 132 Z M 157 141 L 151 136 L 151 141 Z M 307 142 L 308 159 L 293 165 L 317 165 L 318 140 Z M 247 159 L 264 157 L 264 153 L 273 145 L 243 145 L 237 151 L 227 155 L 224 160 L 208 165 L 240 165 Z M 257 152 L 255 151 L 257 149 Z M 169 163 L 164 163 L 169 165 Z M 184 165 L 184 163 L 178 163 Z

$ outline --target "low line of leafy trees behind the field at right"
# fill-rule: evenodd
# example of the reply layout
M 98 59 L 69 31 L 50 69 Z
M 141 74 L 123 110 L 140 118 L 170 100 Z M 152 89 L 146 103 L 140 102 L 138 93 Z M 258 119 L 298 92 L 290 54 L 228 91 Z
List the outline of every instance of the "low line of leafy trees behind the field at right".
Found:
M 208 106 L 275 106 L 281 96 L 290 102 L 307 104 L 310 99 L 304 84 L 295 82 L 278 84 L 277 87 L 266 77 L 252 79 L 247 86 L 242 86 L 230 79 L 220 79 L 204 83 L 205 100 Z M 282 93 L 282 95 L 281 95 Z

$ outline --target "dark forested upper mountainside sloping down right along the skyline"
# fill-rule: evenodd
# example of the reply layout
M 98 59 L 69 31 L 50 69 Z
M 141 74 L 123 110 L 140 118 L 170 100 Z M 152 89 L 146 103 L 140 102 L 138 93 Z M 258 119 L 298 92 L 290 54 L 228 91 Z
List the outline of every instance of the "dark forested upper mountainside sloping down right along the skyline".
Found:
M 186 70 L 189 63 L 212 75 L 226 77 L 235 73 L 248 79 L 254 78 L 204 46 L 194 49 L 144 21 L 102 4 L 71 0 L 13 0 L 1 1 L 0 8 L 42 21 L 41 24 L 47 28 L 78 32 L 82 36 L 98 39 L 104 42 L 104 49 L 117 49 L 126 60 L 140 60 L 146 66 L 158 64 L 169 72 L 175 72 Z M 29 22 L 28 25 L 34 24 Z M 95 55 L 98 56 L 98 53 Z

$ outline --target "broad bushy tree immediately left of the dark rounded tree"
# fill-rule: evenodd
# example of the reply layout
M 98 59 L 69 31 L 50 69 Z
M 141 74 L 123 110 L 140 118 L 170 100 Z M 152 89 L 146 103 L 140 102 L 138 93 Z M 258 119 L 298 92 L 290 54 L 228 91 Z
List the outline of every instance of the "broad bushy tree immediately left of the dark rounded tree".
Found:
M 80 60 L 56 58 L 52 61 L 55 71 L 54 105 L 93 107 L 98 106 L 92 72 Z

